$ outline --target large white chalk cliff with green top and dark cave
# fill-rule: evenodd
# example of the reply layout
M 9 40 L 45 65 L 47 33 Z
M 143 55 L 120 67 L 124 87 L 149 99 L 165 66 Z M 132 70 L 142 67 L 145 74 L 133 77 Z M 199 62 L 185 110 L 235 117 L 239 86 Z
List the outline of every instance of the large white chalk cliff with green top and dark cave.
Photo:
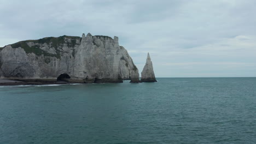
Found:
M 139 81 L 138 69 L 118 37 L 63 35 L 20 41 L 0 51 L 1 78 L 56 81 L 64 74 L 61 78 L 68 82 Z

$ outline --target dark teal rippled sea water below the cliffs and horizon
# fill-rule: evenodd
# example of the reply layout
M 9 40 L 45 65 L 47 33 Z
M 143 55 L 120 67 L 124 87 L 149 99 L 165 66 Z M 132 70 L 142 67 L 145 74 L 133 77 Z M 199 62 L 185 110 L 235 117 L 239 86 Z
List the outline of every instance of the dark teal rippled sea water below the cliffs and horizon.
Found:
M 256 78 L 1 86 L 0 143 L 256 143 Z

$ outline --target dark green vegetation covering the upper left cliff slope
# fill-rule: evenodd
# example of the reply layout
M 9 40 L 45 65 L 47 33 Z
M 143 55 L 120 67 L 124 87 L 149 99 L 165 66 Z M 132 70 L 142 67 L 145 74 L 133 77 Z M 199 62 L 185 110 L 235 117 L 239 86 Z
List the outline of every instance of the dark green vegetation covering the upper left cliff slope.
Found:
M 65 39 L 71 39 L 71 42 L 68 42 Z M 13 48 L 18 48 L 21 47 L 22 49 L 25 50 L 26 53 L 35 53 L 37 56 L 44 55 L 44 56 L 50 56 L 50 57 L 56 57 L 60 58 L 61 57 L 61 48 L 63 44 L 67 44 L 68 47 L 74 47 L 77 44 L 77 39 L 80 39 L 80 37 L 72 37 L 72 36 L 67 36 L 63 35 L 61 37 L 46 37 L 38 40 L 25 40 L 25 41 L 19 41 L 18 43 L 11 44 L 11 47 Z M 34 45 L 34 46 L 28 46 L 28 42 L 33 42 L 33 43 L 39 43 L 39 45 Z M 53 47 L 56 50 L 56 54 L 48 53 L 42 49 L 40 49 L 41 44 L 47 44 Z M 1 50 L 1 49 L 0 49 Z M 73 52 L 72 55 L 74 56 Z

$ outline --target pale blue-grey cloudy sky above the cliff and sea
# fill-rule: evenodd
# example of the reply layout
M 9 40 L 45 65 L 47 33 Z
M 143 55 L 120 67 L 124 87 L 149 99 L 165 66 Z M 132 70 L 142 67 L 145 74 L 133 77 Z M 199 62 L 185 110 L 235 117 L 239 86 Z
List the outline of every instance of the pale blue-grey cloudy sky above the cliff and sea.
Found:
M 256 1 L 0 0 L 0 46 L 26 39 L 119 37 L 156 77 L 256 76 Z

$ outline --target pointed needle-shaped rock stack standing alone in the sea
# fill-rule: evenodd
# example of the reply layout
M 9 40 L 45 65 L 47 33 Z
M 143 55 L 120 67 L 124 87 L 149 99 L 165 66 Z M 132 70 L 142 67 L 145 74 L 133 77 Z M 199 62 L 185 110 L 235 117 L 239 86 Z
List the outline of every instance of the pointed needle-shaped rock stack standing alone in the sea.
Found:
M 148 53 L 146 64 L 141 73 L 141 82 L 157 82 L 153 70 L 153 64 Z

